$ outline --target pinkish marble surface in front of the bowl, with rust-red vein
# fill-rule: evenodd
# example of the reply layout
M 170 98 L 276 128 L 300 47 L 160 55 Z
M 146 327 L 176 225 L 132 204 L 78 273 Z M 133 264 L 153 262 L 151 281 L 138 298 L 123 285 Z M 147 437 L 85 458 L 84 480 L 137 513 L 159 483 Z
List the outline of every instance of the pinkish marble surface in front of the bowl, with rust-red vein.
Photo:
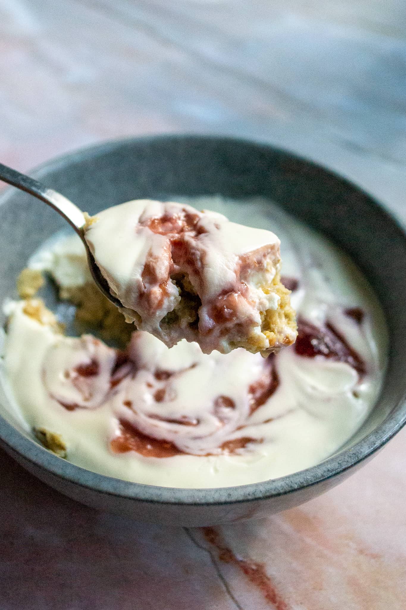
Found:
M 404 443 L 300 508 L 203 530 L 86 508 L 1 454 L 0 607 L 403 610 Z

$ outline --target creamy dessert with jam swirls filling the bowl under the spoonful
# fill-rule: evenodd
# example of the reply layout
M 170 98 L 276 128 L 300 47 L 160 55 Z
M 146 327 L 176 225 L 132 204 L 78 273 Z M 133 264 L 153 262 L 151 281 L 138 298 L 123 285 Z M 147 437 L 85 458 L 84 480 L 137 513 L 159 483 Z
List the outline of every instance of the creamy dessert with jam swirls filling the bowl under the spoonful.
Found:
M 222 342 L 219 334 L 217 349 L 211 351 L 212 345 L 197 333 L 194 317 L 196 303 L 212 306 L 205 301 L 209 286 L 202 292 L 197 281 L 185 280 L 180 254 L 170 273 L 164 270 L 177 289 L 165 284 L 166 295 L 178 308 L 162 325 L 164 336 L 156 331 L 159 325 L 153 327 L 156 319 L 137 330 L 93 284 L 79 237 L 59 235 L 20 274 L 20 300 L 4 305 L 2 375 L 13 398 L 13 415 L 27 434 L 61 458 L 144 484 L 227 487 L 317 464 L 360 428 L 379 395 L 387 334 L 376 297 L 337 248 L 264 199 L 189 198 L 181 203 L 187 213 L 186 204 L 210 209 L 262 229 L 264 235 L 268 229 L 278 235 L 282 268 L 274 249 L 265 264 L 264 257 L 258 259 L 261 273 L 242 277 L 255 302 L 264 301 L 262 310 L 269 307 L 268 317 L 257 319 L 248 312 L 243 326 L 248 334 L 229 323 L 235 317 L 227 318 L 231 340 Z M 198 223 L 219 220 L 226 230 L 233 229 L 223 217 L 193 213 L 186 221 L 197 231 Z M 151 229 L 150 218 L 144 224 Z M 97 260 L 96 228 L 97 221 L 89 223 Z M 160 223 L 155 229 L 162 260 L 173 227 Z M 270 240 L 265 242 L 268 247 Z M 113 285 L 118 276 L 108 268 L 109 260 L 104 268 Z M 133 298 L 137 284 L 129 278 L 127 274 L 114 285 L 127 319 L 137 321 L 143 304 Z M 273 289 L 264 290 L 272 282 Z M 51 285 L 57 292 L 53 302 Z M 290 303 L 296 310 L 295 343 Z M 163 307 L 159 321 L 167 315 Z M 187 340 L 178 341 L 180 332 L 183 337 L 187 332 Z

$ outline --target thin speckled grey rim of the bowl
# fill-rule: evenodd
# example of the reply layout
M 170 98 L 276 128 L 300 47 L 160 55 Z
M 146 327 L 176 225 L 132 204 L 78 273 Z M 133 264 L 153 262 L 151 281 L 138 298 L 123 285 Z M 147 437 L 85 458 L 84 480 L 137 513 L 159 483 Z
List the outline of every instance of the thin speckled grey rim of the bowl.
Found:
M 250 146 L 251 148 L 267 149 L 268 151 L 281 152 L 289 156 L 295 162 L 302 163 L 309 167 L 318 168 L 324 173 L 341 183 L 345 183 L 353 190 L 363 193 L 368 199 L 368 203 L 379 211 L 383 220 L 392 224 L 397 234 L 406 242 L 406 232 L 399 219 L 388 212 L 373 196 L 366 193 L 362 188 L 355 185 L 335 171 L 329 170 L 322 165 L 313 162 L 262 140 L 248 140 L 245 138 L 206 135 L 206 134 L 163 134 L 163 135 L 144 135 L 139 137 L 125 137 L 114 140 L 99 142 L 91 146 L 75 149 L 67 154 L 54 157 L 30 171 L 36 178 L 41 178 L 44 173 L 56 170 L 57 168 L 69 165 L 71 162 L 81 162 L 87 159 L 106 154 L 106 152 L 128 145 L 142 145 L 150 142 L 176 143 L 184 141 L 194 141 L 195 143 L 222 143 L 228 145 Z M 0 196 L 0 206 L 7 203 L 12 198 L 15 191 L 13 188 L 6 188 Z M 377 428 L 369 432 L 363 439 L 357 441 L 352 447 L 338 450 L 331 457 L 323 460 L 319 464 L 306 468 L 299 472 L 285 475 L 277 479 L 268 479 L 260 483 L 233 487 L 208 487 L 208 488 L 182 488 L 182 487 L 161 487 L 142 483 L 133 483 L 111 476 L 101 475 L 91 472 L 80 466 L 72 464 L 65 459 L 47 451 L 38 445 L 34 440 L 24 436 L 6 418 L 0 415 L 0 441 L 11 454 L 19 454 L 24 461 L 49 471 L 66 482 L 76 486 L 84 487 L 105 495 L 113 497 L 127 498 L 128 500 L 141 501 L 156 504 L 182 504 L 210 506 L 221 504 L 243 503 L 252 500 L 267 500 L 269 498 L 281 497 L 294 493 L 299 489 L 306 489 L 323 483 L 337 475 L 344 475 L 349 469 L 370 458 L 380 450 L 399 430 L 406 424 L 406 390 L 396 406 Z

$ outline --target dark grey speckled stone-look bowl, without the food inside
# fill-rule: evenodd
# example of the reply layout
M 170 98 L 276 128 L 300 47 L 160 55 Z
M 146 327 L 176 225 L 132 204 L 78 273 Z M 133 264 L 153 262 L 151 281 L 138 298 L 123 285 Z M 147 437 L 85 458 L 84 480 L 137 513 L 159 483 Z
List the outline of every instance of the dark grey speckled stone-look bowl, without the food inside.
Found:
M 168 135 L 94 146 L 46 163 L 34 176 L 96 213 L 128 199 L 171 195 L 261 195 L 330 237 L 359 265 L 387 317 L 390 354 L 373 413 L 346 448 L 302 472 L 240 487 L 173 489 L 83 470 L 49 453 L 0 418 L 2 447 L 30 472 L 83 503 L 170 525 L 214 525 L 261 517 L 343 481 L 406 421 L 406 235 L 371 197 L 313 163 L 232 138 Z M 9 189 L 0 200 L 0 300 L 14 293 L 27 258 L 63 220 Z M 4 399 L 3 399 L 4 400 Z

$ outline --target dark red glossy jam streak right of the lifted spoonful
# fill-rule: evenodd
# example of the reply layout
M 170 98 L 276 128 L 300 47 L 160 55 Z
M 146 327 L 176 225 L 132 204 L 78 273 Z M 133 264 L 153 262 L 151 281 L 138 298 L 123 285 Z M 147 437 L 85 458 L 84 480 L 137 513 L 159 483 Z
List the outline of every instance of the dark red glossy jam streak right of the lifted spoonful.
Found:
M 331 324 L 318 327 L 299 318 L 295 352 L 307 358 L 323 356 L 335 362 L 345 362 L 360 375 L 366 373 L 365 362 Z

